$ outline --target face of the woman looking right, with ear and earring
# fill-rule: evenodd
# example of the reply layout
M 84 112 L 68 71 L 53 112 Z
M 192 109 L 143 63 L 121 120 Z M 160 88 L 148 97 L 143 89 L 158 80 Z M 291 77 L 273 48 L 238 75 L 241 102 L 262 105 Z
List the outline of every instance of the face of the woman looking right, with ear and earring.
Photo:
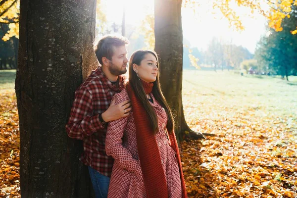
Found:
M 147 53 L 140 65 L 133 64 L 133 70 L 138 74 L 139 78 L 147 83 L 156 81 L 158 74 L 158 62 L 154 55 Z

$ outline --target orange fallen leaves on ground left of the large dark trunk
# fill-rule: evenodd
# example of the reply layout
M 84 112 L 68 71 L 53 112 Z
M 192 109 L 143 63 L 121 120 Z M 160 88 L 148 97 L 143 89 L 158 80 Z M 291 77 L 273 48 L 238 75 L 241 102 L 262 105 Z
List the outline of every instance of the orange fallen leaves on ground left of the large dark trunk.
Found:
M 13 90 L 0 92 L 0 197 L 19 198 L 19 125 Z

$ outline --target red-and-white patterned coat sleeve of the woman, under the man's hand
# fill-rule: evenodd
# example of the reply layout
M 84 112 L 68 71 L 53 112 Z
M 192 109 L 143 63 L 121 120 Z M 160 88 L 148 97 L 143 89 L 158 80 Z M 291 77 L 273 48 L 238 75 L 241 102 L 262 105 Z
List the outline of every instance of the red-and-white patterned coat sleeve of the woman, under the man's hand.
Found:
M 120 99 L 117 95 L 115 95 L 113 99 L 115 99 L 115 104 L 126 100 L 125 98 Z M 111 155 L 115 159 L 115 163 L 122 169 L 136 174 L 136 176 L 141 179 L 142 171 L 140 161 L 133 158 L 131 152 L 122 144 L 128 118 L 129 116 L 109 122 L 106 132 L 105 151 L 107 155 Z

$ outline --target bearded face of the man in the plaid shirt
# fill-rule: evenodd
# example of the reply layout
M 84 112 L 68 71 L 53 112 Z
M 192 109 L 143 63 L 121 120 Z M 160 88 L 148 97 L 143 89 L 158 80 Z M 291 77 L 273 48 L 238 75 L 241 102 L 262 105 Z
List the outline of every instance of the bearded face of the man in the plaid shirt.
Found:
M 119 76 L 127 72 L 127 49 L 126 46 L 114 47 L 113 56 L 109 60 L 108 70 L 114 76 Z

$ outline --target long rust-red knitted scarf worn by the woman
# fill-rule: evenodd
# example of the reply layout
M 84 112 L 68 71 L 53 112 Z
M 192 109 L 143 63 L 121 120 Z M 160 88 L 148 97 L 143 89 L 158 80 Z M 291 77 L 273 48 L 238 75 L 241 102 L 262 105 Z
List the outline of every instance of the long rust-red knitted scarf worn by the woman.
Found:
M 142 81 L 146 94 L 152 91 L 153 83 Z M 143 178 L 148 198 L 168 198 L 168 189 L 164 170 L 161 164 L 161 157 L 155 136 L 151 130 L 147 112 L 140 99 L 135 96 L 133 88 L 127 85 L 127 92 L 132 103 L 132 111 L 136 126 L 136 140 L 138 154 L 143 172 Z M 182 198 L 187 198 L 187 191 L 179 156 L 179 150 L 174 132 L 169 136 L 171 147 L 176 152 L 179 165 L 179 172 L 182 183 Z

